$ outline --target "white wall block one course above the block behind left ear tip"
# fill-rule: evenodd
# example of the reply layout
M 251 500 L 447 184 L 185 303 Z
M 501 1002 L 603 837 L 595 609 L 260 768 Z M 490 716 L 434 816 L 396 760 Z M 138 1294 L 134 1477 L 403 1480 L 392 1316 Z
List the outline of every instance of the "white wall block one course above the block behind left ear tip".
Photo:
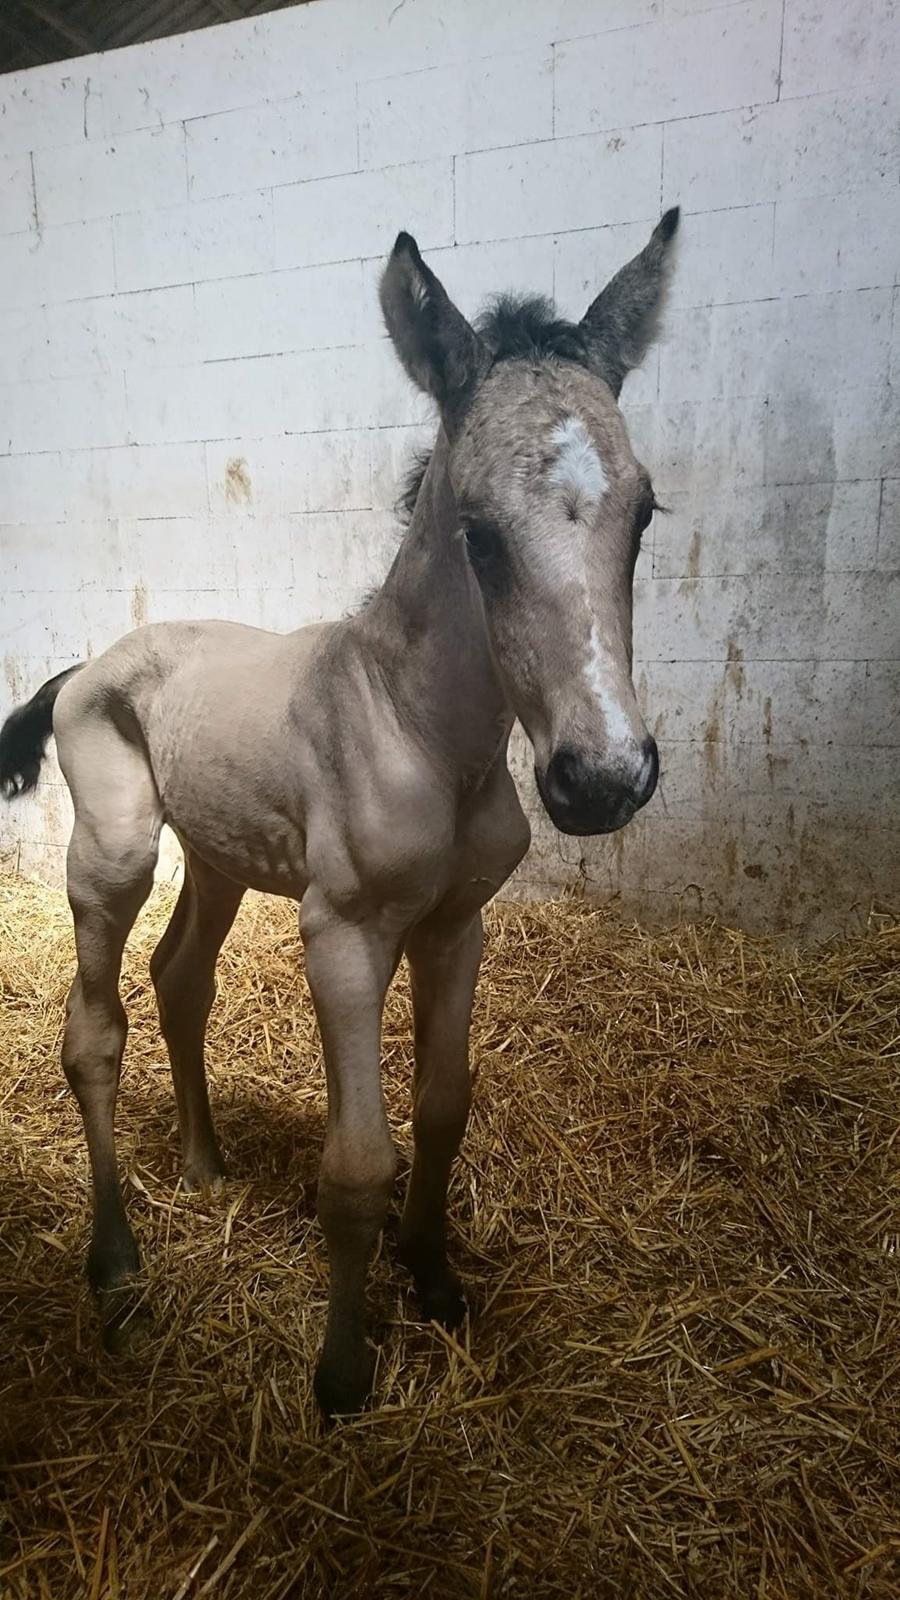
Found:
M 552 138 L 549 50 L 360 83 L 362 166 L 399 166 Z

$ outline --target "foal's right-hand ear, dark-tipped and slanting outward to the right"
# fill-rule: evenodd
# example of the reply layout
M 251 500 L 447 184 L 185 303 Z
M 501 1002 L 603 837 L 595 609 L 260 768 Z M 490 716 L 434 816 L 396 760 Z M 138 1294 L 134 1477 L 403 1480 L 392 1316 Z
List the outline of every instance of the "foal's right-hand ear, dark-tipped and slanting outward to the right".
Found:
M 610 278 L 581 320 L 591 365 L 617 397 L 657 334 L 677 219 L 677 206 L 665 213 L 641 254 Z

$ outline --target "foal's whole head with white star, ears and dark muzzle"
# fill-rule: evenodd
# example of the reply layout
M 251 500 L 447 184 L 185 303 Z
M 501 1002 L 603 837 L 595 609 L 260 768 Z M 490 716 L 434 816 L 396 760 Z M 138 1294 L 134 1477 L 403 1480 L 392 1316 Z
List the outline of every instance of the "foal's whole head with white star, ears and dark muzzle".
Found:
M 472 328 L 400 234 L 388 330 L 440 408 L 468 558 L 509 701 L 567 834 L 621 827 L 657 787 L 631 682 L 631 586 L 653 486 L 618 394 L 650 344 L 677 210 L 580 323 L 501 299 Z

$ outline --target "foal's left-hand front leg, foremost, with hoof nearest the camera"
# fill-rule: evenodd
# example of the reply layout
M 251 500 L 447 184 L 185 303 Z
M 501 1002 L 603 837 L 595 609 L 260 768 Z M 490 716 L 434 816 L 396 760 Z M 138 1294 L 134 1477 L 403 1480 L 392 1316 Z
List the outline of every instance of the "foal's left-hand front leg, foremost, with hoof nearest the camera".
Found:
M 303 902 L 301 933 L 328 1083 L 319 1219 L 330 1288 L 314 1387 L 330 1416 L 365 1405 L 375 1370 L 365 1342 L 365 1278 L 397 1166 L 381 1096 L 381 1011 L 397 941 L 336 917 L 314 891 Z

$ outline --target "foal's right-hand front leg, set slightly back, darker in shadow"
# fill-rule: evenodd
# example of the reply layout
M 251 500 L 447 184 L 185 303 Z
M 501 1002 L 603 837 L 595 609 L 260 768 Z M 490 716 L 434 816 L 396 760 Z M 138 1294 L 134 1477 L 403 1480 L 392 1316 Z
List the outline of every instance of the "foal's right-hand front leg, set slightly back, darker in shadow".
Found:
M 447 1264 L 447 1184 L 471 1102 L 469 1022 L 482 958 L 480 912 L 423 923 L 407 942 L 415 1013 L 415 1155 L 400 1256 L 426 1318 L 455 1328 L 466 1302 Z

